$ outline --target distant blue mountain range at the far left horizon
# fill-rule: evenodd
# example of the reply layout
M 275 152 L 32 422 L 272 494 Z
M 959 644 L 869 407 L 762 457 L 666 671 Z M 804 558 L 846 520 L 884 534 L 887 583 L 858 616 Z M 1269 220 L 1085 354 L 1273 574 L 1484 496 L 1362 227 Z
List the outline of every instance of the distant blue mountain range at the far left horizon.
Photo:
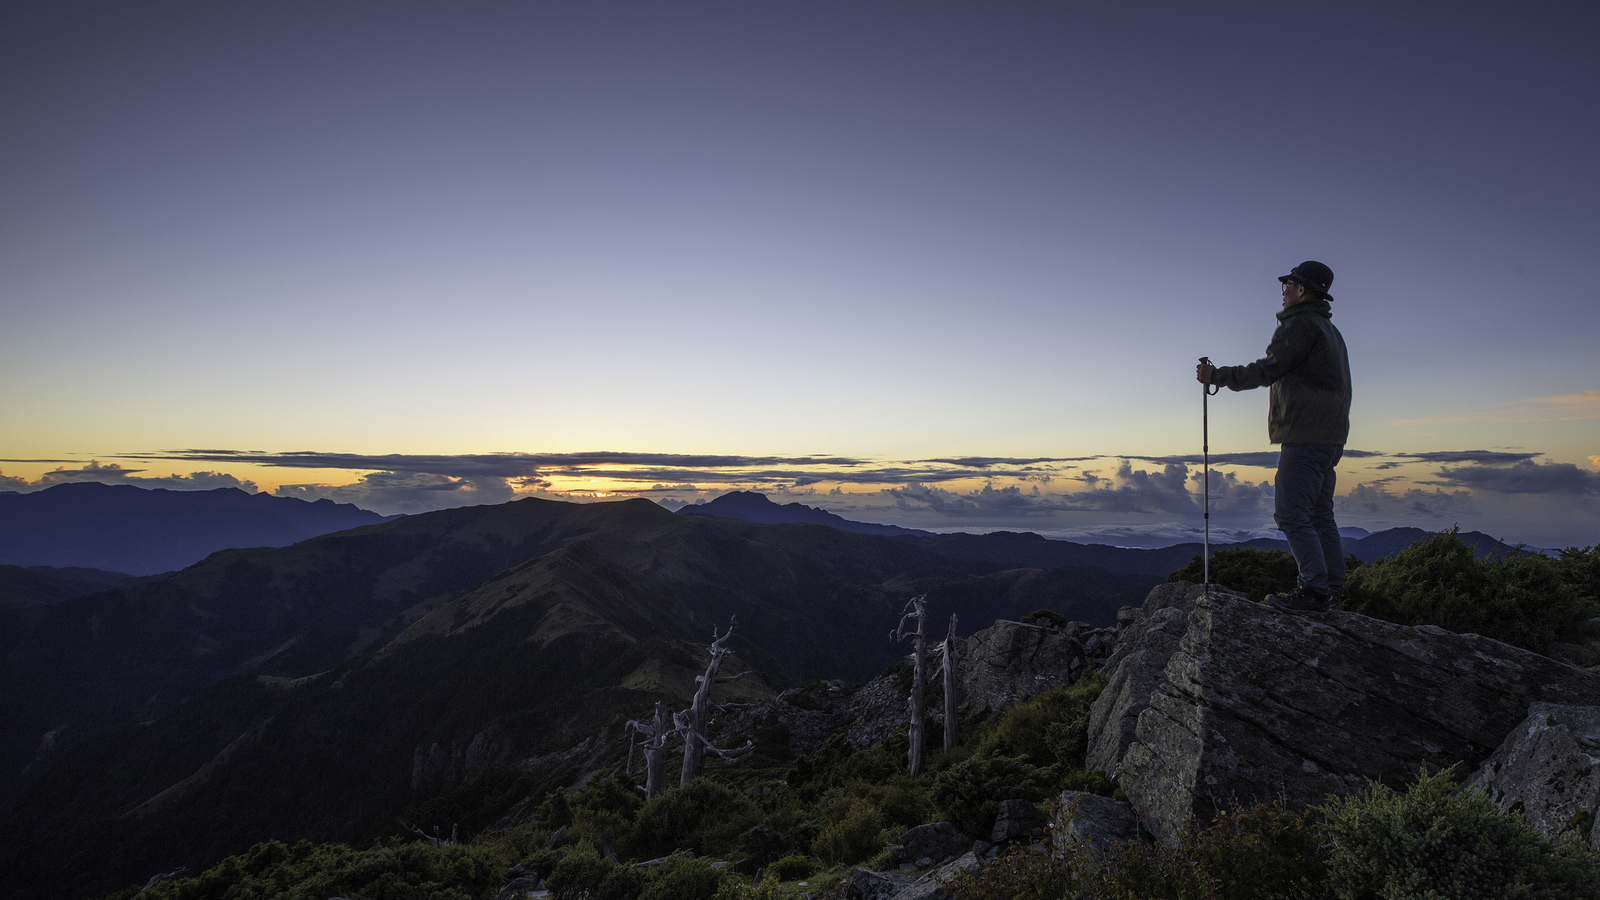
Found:
M 307 503 L 232 487 L 59 484 L 29 493 L 0 492 L 0 565 L 155 575 L 194 565 L 219 549 L 288 546 L 386 519 L 349 503 Z

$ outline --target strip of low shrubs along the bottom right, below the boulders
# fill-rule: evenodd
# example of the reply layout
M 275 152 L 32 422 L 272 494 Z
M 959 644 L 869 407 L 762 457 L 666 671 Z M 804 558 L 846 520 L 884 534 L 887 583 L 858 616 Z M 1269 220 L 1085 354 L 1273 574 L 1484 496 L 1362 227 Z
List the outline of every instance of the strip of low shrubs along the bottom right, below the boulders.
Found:
M 1072 894 L 1069 894 L 1072 892 Z M 1600 854 L 1541 838 L 1450 772 L 1405 793 L 1371 785 L 1288 812 L 1226 814 L 1176 846 L 1128 844 L 1106 863 L 1013 854 L 955 884 L 955 900 L 1597 900 Z

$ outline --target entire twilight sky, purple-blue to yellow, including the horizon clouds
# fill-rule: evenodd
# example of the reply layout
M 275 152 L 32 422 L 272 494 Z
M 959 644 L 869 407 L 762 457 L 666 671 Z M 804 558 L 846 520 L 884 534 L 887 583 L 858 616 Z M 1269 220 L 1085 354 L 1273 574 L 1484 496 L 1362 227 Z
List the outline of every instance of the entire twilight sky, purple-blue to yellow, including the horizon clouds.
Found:
M 1590 3 L 0 11 L 0 490 L 758 490 L 1269 536 L 1277 275 L 1339 524 L 1600 543 Z

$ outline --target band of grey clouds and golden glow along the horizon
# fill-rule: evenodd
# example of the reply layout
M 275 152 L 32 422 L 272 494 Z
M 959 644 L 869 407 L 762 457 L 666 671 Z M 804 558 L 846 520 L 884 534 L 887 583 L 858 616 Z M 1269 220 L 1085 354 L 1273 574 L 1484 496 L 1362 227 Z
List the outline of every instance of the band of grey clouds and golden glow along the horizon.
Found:
M 1205 511 L 1210 511 L 1214 533 L 1270 533 L 1277 464 L 1275 452 L 1219 453 L 1210 460 L 1189 455 L 870 460 L 614 450 L 366 455 L 210 448 L 118 458 L 144 464 L 250 468 L 267 482 L 272 479 L 264 476 L 272 469 L 349 471 L 352 477 L 342 484 L 285 479 L 275 492 L 352 503 L 384 514 L 504 503 L 518 496 L 578 501 L 643 496 L 677 509 L 728 490 L 758 490 L 779 503 L 806 503 L 859 520 L 933 530 L 1035 530 L 1054 536 L 1106 535 L 1107 528 L 1194 536 Z M 1346 460 L 1339 472 L 1344 490 L 1338 496 L 1344 525 L 1470 527 L 1490 514 L 1525 516 L 1536 522 L 1539 509 L 1546 509 L 1554 511 L 1550 519 L 1563 522 L 1563 528 L 1600 532 L 1600 501 L 1595 500 L 1600 498 L 1600 472 L 1546 461 L 1538 452 L 1352 448 Z M 173 490 L 256 490 L 256 482 L 227 471 L 152 476 L 144 468 L 96 460 L 59 464 L 32 482 L 0 474 L 0 490 L 42 490 L 74 480 Z M 1523 527 L 1506 522 L 1501 533 Z M 1576 544 L 1582 536 L 1546 540 Z

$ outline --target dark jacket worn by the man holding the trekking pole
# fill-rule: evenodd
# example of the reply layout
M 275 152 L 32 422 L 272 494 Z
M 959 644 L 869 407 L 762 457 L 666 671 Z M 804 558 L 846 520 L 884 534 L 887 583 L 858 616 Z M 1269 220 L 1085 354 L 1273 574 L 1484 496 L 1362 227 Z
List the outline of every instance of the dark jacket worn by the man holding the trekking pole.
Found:
M 1326 299 L 1278 312 L 1267 356 L 1221 365 L 1213 384 L 1234 391 L 1272 386 L 1267 437 L 1274 444 L 1344 444 L 1350 436 L 1350 359 Z

